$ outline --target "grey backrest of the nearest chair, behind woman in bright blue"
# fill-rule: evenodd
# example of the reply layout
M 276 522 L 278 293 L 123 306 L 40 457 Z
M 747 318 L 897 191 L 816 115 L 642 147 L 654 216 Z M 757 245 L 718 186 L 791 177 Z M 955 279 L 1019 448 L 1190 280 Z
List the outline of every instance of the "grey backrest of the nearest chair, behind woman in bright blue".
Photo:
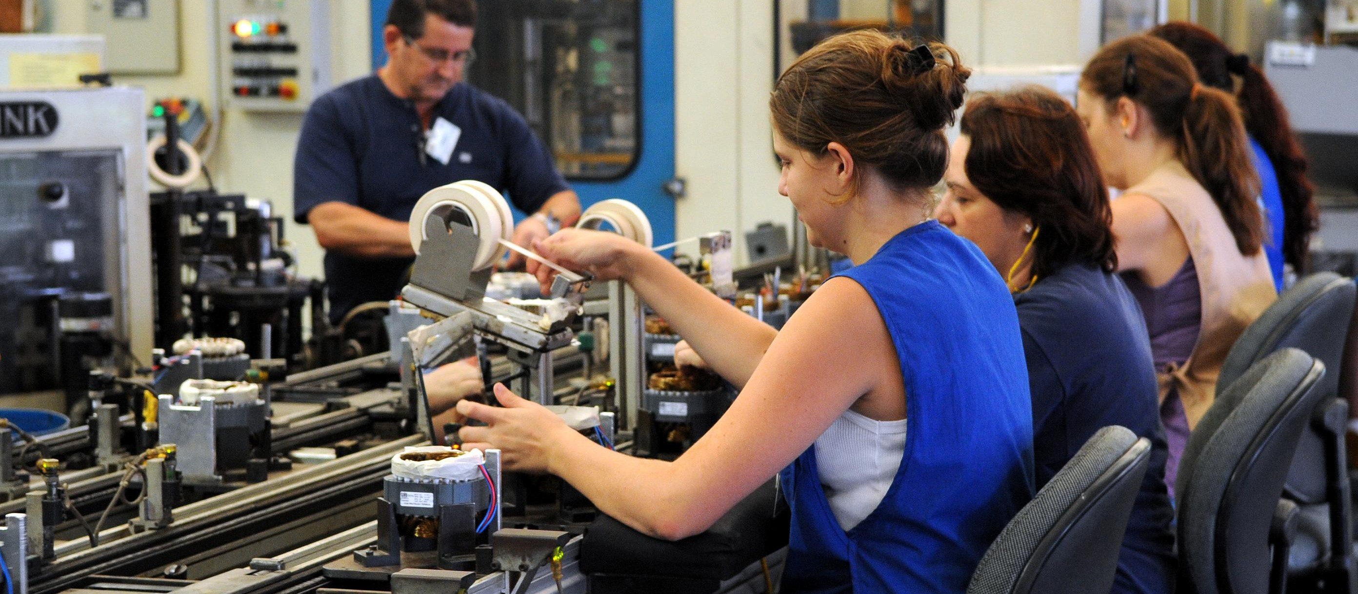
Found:
M 968 594 L 1108 591 L 1150 441 L 1100 429 L 999 533 Z

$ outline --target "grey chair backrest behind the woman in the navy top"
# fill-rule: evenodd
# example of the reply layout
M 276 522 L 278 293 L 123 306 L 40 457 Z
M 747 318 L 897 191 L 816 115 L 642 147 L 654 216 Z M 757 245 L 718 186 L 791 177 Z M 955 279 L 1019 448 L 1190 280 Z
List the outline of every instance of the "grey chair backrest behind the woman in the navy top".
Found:
M 1283 349 L 1218 393 L 1198 422 L 1175 490 L 1180 572 L 1192 591 L 1267 591 L 1270 523 L 1324 376 L 1319 359 Z

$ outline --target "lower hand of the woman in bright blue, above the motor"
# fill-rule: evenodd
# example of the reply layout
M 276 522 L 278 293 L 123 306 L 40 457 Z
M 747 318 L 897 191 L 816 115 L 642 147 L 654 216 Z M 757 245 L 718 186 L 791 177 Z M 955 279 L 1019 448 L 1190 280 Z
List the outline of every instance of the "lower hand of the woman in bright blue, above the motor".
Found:
M 463 450 L 498 448 L 505 469 L 551 472 L 551 453 L 566 439 L 584 439 L 546 407 L 519 397 L 504 384 L 496 384 L 494 392 L 502 408 L 470 400 L 458 403 L 458 412 L 486 423 L 458 431 Z

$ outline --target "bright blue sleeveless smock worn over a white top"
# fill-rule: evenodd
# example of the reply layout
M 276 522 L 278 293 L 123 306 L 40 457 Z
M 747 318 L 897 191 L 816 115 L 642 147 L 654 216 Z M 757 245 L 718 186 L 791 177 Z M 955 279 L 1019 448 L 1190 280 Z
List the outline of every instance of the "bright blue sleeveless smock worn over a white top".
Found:
M 808 448 L 782 471 L 792 506 L 785 593 L 960 593 L 1032 498 L 1032 410 L 1013 300 L 975 244 L 911 226 L 841 277 L 891 334 L 906 445 L 881 503 L 847 533 Z

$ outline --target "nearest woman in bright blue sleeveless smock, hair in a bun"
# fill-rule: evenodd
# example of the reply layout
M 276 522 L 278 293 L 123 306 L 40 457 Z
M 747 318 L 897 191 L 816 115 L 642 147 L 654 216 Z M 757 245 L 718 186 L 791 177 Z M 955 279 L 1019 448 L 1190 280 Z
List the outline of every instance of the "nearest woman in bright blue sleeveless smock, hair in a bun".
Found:
M 488 423 L 462 430 L 464 448 L 500 448 L 509 468 L 555 473 L 599 510 L 674 540 L 706 530 L 781 471 L 792 506 L 782 591 L 966 590 L 1032 494 L 1013 301 L 974 244 L 925 220 L 967 76 L 944 45 L 856 31 L 779 77 L 779 191 L 813 245 L 856 264 L 781 332 L 619 236 L 572 229 L 535 245 L 625 279 L 741 387 L 678 460 L 599 448 L 504 387 L 504 408 L 459 403 Z

